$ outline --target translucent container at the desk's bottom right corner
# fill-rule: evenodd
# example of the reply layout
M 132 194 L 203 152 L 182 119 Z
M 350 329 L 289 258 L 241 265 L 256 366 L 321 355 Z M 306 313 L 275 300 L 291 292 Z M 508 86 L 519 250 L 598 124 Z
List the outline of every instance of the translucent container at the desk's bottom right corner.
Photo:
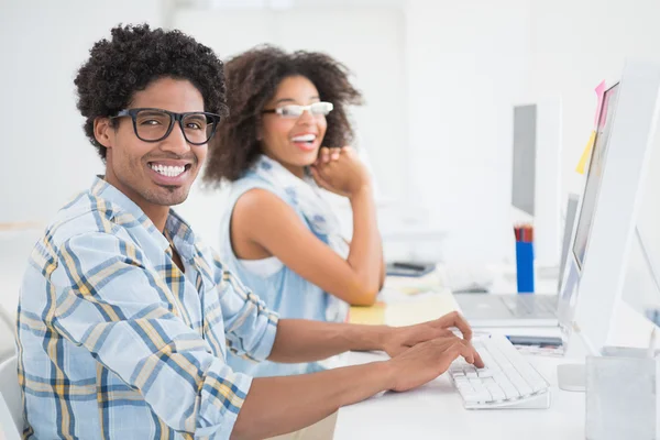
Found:
M 586 358 L 586 439 L 660 439 L 658 361 L 644 349 L 604 354 Z

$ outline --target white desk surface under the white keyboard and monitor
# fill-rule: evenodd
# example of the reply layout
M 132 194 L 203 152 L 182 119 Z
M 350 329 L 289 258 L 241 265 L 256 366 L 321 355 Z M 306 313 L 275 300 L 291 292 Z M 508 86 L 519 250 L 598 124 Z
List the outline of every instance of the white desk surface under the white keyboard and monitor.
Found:
M 389 301 L 391 298 L 392 294 L 385 295 L 384 300 Z M 641 317 L 628 307 L 622 306 L 618 319 L 613 323 L 615 331 L 610 343 L 637 345 L 645 340 L 641 336 L 648 334 L 649 324 L 641 322 Z M 559 334 L 557 328 L 491 331 Z M 383 359 L 386 359 L 384 354 L 350 353 L 348 362 L 361 364 Z M 557 385 L 557 365 L 575 361 L 538 355 L 528 359 L 551 385 L 549 409 L 466 410 L 451 380 L 443 374 L 411 392 L 385 393 L 340 408 L 334 439 L 584 439 L 585 394 L 564 392 Z

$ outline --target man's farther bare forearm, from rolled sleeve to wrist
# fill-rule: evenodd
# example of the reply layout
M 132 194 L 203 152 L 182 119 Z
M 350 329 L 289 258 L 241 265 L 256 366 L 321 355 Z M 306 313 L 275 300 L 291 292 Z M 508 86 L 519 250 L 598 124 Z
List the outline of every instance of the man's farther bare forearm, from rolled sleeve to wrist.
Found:
M 382 350 L 386 326 L 280 319 L 268 361 L 314 362 L 345 351 Z

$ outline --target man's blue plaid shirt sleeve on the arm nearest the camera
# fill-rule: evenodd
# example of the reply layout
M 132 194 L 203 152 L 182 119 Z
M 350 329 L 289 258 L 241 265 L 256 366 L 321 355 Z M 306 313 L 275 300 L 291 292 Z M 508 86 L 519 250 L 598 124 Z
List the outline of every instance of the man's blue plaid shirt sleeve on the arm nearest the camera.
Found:
M 252 378 L 234 373 L 186 326 L 141 251 L 111 234 L 85 233 L 59 248 L 58 261 L 50 277 L 55 329 L 136 389 L 174 430 L 228 439 Z

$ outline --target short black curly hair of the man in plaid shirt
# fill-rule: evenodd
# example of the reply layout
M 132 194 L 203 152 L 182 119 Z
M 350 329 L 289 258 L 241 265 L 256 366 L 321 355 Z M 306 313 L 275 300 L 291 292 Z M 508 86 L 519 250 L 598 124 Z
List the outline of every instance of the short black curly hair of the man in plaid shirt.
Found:
M 106 147 L 94 135 L 94 120 L 116 116 L 158 78 L 189 80 L 201 94 L 205 111 L 227 113 L 222 62 L 212 50 L 180 31 L 148 24 L 119 25 L 111 35 L 94 45 L 74 81 L 85 134 L 103 161 Z

